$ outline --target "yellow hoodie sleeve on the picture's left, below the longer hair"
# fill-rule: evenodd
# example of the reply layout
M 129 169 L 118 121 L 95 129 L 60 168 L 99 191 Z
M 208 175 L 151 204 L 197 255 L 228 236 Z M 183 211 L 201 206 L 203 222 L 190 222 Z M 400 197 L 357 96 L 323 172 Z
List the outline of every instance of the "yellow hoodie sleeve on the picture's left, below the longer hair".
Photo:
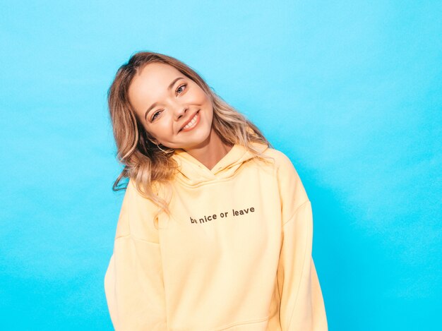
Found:
M 155 207 L 129 181 L 104 275 L 109 314 L 117 331 L 167 330 L 165 288 Z

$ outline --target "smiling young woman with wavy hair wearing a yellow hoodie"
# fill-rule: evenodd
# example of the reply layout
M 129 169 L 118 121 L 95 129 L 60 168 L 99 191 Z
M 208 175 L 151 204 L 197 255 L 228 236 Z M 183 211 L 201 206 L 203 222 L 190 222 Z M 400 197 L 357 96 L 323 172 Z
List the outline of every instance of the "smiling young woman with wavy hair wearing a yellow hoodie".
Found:
M 109 111 L 129 179 L 104 277 L 116 330 L 328 330 L 292 162 L 189 66 L 139 52 Z

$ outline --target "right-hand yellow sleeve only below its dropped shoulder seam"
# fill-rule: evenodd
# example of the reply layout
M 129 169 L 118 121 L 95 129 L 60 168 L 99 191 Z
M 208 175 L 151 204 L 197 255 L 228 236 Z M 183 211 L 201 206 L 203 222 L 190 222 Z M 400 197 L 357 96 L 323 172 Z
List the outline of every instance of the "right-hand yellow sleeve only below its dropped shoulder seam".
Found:
M 311 204 L 306 201 L 283 226 L 277 268 L 282 330 L 328 330 L 321 287 L 311 257 L 312 234 Z

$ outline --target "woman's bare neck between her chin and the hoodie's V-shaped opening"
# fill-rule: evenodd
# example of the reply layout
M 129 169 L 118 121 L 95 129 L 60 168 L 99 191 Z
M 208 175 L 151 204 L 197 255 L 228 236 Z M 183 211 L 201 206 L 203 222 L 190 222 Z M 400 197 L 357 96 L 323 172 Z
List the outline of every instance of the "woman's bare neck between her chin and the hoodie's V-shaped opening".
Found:
M 196 146 L 195 148 L 188 148 L 186 149 L 186 152 L 204 164 L 205 167 L 212 170 L 215 164 L 217 164 L 222 157 L 232 149 L 232 147 L 232 145 L 226 145 L 223 143 L 220 136 L 218 136 L 212 129 L 210 135 L 203 144 Z

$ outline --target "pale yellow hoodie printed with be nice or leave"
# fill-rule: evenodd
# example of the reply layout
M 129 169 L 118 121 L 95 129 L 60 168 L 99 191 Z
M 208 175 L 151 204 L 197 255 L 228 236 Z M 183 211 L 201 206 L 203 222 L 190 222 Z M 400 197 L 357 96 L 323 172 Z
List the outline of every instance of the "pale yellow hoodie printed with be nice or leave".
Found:
M 104 290 L 115 330 L 328 330 L 311 257 L 311 203 L 292 162 L 253 143 L 213 169 L 172 157 L 171 217 L 129 181 Z

